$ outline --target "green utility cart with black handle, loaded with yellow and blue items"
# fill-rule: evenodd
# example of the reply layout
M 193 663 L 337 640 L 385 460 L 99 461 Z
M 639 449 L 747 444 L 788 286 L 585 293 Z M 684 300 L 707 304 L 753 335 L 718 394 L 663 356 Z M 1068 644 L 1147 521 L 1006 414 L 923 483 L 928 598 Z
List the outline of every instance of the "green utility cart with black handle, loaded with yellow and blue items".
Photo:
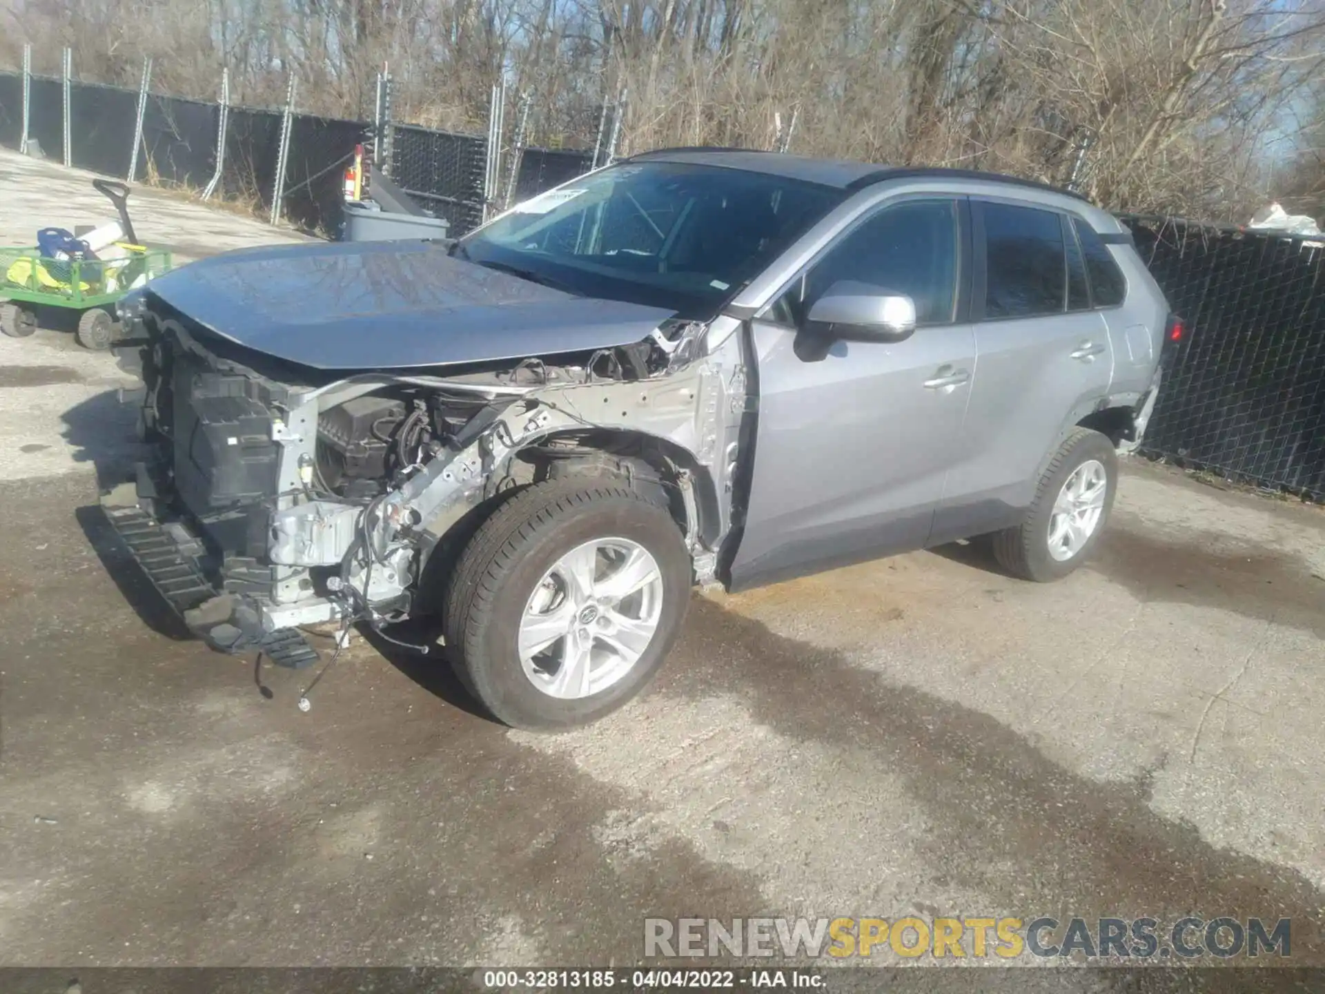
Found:
M 109 349 L 115 339 L 113 305 L 131 289 L 171 268 L 167 249 L 138 244 L 129 220 L 123 183 L 93 180 L 119 212 L 119 235 L 95 257 L 61 252 L 42 254 L 40 248 L 0 248 L 0 331 L 15 338 L 37 330 L 33 305 L 82 311 L 78 342 L 87 349 Z M 101 229 L 98 229 L 101 231 Z M 113 232 L 114 235 L 114 232 Z

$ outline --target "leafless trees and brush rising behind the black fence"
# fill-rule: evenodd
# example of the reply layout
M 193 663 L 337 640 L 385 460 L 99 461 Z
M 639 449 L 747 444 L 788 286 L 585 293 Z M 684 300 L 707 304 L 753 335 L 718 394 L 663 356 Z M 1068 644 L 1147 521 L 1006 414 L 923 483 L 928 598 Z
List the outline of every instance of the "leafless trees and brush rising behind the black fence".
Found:
M 1325 0 L 0 0 L 0 60 L 168 93 L 368 111 L 482 131 L 493 82 L 531 97 L 535 143 L 592 143 L 629 93 L 623 150 L 770 148 L 988 168 L 1122 209 L 1242 217 L 1301 186 Z M 1302 123 L 1302 118 L 1306 123 Z M 1318 129 L 1318 126 L 1314 126 Z M 1318 155 L 1318 151 L 1316 152 Z M 1304 164 L 1305 163 L 1305 164 Z M 1295 187 L 1296 188 L 1296 187 Z

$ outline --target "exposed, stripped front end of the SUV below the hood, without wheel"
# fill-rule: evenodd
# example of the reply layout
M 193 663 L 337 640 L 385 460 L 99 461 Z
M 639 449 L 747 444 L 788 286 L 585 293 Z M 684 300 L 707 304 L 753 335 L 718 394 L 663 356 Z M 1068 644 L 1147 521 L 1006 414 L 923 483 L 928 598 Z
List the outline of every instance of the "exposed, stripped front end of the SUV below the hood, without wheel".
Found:
M 248 347 L 151 292 L 125 318 L 154 457 L 103 506 L 215 648 L 298 667 L 315 660 L 303 626 L 435 614 L 433 558 L 457 526 L 563 472 L 656 478 L 696 579 L 717 577 L 750 407 L 734 319 L 354 371 Z

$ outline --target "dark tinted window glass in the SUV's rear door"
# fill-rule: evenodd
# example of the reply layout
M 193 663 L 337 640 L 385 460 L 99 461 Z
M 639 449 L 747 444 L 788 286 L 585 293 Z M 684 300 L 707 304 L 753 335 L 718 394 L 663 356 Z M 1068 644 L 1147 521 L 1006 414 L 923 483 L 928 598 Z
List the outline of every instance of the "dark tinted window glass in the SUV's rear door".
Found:
M 1063 313 L 1067 265 L 1059 215 L 984 204 L 984 244 L 986 318 Z

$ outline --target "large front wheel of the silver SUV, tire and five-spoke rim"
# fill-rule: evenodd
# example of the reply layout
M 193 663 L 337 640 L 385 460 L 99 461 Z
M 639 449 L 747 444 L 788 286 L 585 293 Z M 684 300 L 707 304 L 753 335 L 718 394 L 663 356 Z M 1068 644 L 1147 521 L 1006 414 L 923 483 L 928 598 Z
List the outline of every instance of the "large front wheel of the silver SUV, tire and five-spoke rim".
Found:
M 447 596 L 447 645 L 461 680 L 505 724 L 586 725 L 657 673 L 690 580 L 656 485 L 551 478 L 502 505 L 465 547 Z

